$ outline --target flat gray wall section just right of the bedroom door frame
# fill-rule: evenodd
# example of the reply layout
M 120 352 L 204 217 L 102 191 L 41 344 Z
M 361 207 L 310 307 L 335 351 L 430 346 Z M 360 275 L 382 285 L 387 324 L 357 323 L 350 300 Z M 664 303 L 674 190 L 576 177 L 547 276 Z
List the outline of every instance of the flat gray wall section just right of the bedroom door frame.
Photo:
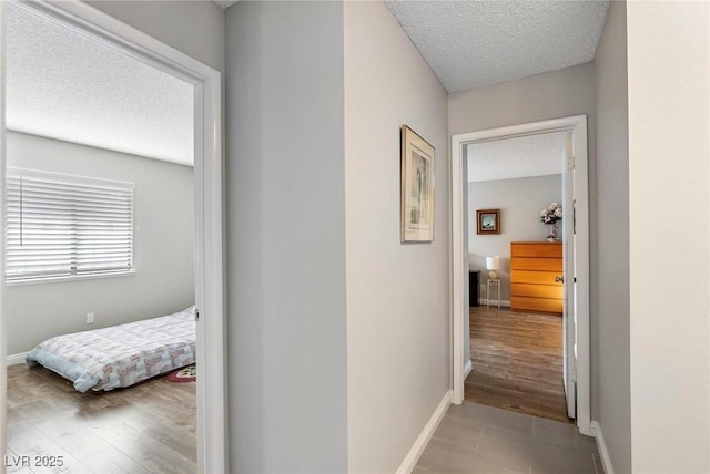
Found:
M 226 17 L 231 471 L 343 473 L 343 4 Z

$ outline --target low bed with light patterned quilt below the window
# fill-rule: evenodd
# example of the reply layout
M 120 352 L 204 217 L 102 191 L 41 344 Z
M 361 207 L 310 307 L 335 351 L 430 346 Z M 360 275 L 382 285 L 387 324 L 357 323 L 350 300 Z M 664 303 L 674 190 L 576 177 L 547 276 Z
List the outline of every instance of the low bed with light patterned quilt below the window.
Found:
M 80 392 L 130 387 L 195 362 L 195 307 L 160 318 L 58 336 L 28 352 Z

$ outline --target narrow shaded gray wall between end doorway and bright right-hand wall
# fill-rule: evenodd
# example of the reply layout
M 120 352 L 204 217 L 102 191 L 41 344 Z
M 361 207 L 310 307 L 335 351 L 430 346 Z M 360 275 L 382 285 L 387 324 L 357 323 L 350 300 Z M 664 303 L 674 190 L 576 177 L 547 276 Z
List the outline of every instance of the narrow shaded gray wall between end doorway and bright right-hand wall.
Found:
M 599 307 L 597 420 L 613 468 L 631 472 L 629 334 L 629 121 L 626 2 L 611 2 L 595 56 Z

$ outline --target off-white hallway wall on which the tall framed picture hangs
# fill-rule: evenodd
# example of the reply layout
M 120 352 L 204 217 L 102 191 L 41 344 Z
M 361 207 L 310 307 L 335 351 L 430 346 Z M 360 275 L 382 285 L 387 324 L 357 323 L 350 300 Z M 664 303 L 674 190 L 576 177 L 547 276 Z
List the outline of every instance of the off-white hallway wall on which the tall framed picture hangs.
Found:
M 382 2 L 345 2 L 352 473 L 393 473 L 449 389 L 447 95 Z M 399 127 L 436 148 L 434 243 L 399 243 Z

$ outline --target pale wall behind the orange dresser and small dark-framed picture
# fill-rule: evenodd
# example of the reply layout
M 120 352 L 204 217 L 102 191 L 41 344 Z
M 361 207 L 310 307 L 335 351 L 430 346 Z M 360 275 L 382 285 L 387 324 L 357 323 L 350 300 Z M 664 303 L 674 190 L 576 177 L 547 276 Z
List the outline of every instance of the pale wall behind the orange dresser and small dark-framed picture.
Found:
M 500 299 L 510 301 L 510 243 L 545 241 L 549 227 L 540 223 L 540 210 L 562 202 L 562 175 L 534 176 L 468 183 L 468 253 L 470 268 L 488 278 L 486 257 L 500 256 Z M 500 209 L 500 234 L 478 235 L 476 209 Z M 558 224 L 562 238 L 561 223 Z M 479 292 L 479 298 L 485 298 Z

